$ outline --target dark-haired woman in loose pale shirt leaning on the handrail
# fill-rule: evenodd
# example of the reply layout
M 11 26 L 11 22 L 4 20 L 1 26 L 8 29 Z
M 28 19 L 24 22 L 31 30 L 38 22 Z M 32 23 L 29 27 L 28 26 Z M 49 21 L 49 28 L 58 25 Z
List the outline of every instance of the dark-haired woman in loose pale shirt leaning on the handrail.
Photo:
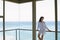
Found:
M 40 17 L 39 22 L 38 22 L 38 38 L 39 40 L 43 40 L 44 33 L 46 30 L 50 31 L 47 27 L 45 22 L 43 21 L 44 17 Z

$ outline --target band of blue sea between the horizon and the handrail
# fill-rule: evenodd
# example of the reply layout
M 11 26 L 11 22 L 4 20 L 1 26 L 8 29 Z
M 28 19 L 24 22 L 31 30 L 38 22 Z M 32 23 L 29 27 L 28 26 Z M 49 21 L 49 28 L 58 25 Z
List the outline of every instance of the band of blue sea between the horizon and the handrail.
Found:
M 48 28 L 50 27 L 50 29 L 55 30 L 55 21 L 46 21 L 45 22 L 46 25 L 48 26 Z M 36 29 L 38 26 L 38 22 L 36 22 Z M 54 27 L 53 27 L 54 26 Z M 32 22 L 5 22 L 5 29 L 32 29 Z M 2 30 L 3 28 L 3 23 L 0 22 L 0 30 Z M 60 30 L 60 21 L 58 21 L 58 30 Z

